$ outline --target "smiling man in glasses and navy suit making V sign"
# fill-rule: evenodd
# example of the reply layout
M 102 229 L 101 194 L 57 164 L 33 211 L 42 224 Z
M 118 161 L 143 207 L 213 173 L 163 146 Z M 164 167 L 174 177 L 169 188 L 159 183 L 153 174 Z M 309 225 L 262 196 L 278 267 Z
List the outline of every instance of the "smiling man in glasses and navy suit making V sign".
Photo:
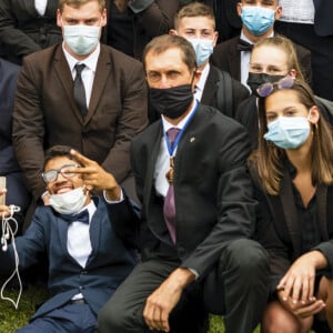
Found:
M 37 209 L 16 246 L 0 251 L 3 273 L 16 269 L 16 254 L 20 270 L 34 264 L 39 254 L 48 254 L 52 296 L 18 332 L 93 333 L 98 311 L 137 263 L 135 250 L 112 225 L 117 212 L 109 201 L 120 189 L 111 173 L 63 145 L 46 152 L 42 179 L 50 205 Z M 104 199 L 91 196 L 92 189 L 103 190 Z

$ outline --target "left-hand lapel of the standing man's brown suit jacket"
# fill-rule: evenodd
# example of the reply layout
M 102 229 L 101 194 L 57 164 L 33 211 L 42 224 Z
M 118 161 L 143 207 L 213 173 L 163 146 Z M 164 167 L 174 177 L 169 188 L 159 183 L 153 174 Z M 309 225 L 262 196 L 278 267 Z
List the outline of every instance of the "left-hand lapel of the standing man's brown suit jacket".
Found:
M 81 112 L 74 101 L 73 78 L 72 78 L 69 64 L 64 58 L 61 43 L 59 44 L 59 47 L 56 50 L 53 64 L 54 64 L 54 70 L 58 74 L 59 82 L 63 85 L 63 90 L 68 97 L 68 101 L 71 104 L 74 114 L 77 115 L 79 122 L 83 123 Z

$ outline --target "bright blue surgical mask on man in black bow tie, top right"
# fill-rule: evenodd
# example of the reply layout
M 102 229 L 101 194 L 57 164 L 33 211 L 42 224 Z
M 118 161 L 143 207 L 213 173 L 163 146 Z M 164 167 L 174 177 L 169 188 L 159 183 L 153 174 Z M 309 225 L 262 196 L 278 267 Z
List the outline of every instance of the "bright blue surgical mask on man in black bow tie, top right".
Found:
M 241 18 L 251 33 L 261 36 L 273 26 L 275 10 L 260 6 L 243 6 Z

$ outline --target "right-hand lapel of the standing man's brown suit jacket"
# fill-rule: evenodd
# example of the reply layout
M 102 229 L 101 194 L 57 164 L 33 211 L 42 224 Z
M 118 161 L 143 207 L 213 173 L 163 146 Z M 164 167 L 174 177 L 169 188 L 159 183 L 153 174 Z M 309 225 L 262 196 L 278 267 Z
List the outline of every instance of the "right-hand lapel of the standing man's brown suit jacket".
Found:
M 85 123 L 89 122 L 91 117 L 93 115 L 97 105 L 102 97 L 102 93 L 105 91 L 104 87 L 107 84 L 107 80 L 110 75 L 110 70 L 111 70 L 111 61 L 107 57 L 105 49 L 101 44 L 101 52 L 99 56 L 99 60 L 97 63 L 97 69 L 95 69 L 95 74 L 94 74 L 94 80 L 93 80 L 93 85 L 92 85 L 92 91 L 91 91 L 91 97 L 90 97 L 90 104 L 88 109 L 88 114 L 85 118 Z

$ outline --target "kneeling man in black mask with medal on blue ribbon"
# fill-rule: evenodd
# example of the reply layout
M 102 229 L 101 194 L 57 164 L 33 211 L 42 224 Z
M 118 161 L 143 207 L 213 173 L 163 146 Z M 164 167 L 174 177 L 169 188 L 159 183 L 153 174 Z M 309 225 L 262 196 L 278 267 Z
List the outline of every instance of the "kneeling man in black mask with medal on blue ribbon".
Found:
M 268 261 L 250 240 L 255 202 L 249 138 L 234 120 L 193 98 L 200 72 L 189 41 L 158 37 L 143 61 L 162 119 L 132 143 L 142 218 L 114 221 L 138 232 L 142 263 L 101 310 L 99 332 L 198 332 L 189 329 L 193 315 L 174 331 L 195 297 L 202 311 L 225 315 L 226 332 L 250 332 L 266 302 Z M 117 205 L 130 209 L 127 200 Z M 185 315 L 176 317 L 179 310 Z

